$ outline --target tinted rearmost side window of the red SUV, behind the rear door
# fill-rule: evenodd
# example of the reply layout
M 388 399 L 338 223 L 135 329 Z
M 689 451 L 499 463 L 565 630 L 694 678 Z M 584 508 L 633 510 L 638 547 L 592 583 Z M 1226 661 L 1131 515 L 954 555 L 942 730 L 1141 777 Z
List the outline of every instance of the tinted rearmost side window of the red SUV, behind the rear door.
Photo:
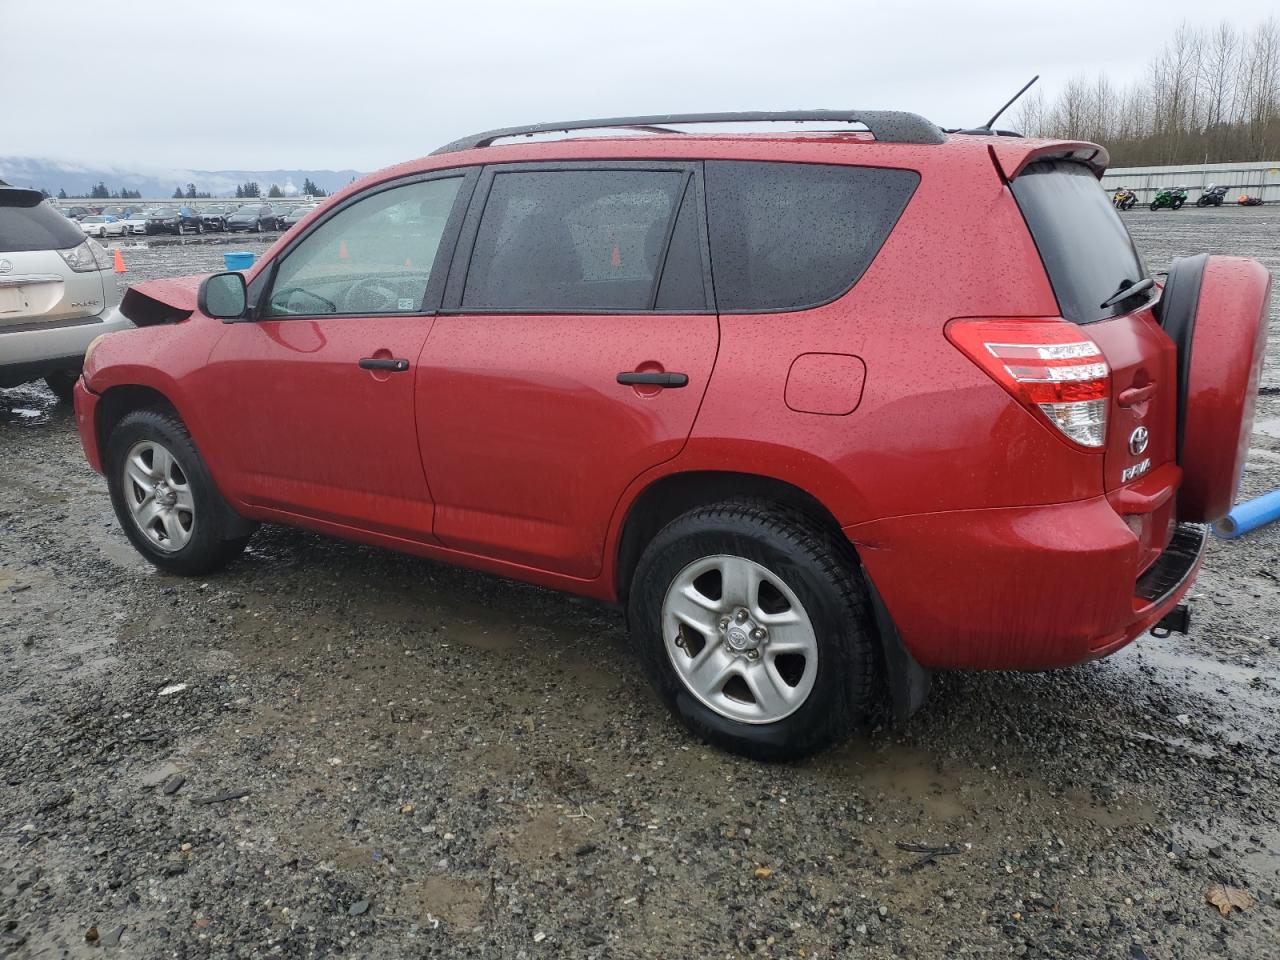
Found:
M 870 166 L 713 160 L 705 169 L 722 312 L 835 300 L 870 266 L 920 182 Z

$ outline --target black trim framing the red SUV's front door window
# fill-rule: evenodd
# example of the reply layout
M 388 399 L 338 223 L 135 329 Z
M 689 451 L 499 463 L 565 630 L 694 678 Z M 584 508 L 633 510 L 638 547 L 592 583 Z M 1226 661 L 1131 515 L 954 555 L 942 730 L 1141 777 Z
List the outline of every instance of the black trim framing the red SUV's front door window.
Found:
M 315 233 L 317 229 L 324 227 L 329 220 L 347 210 L 356 204 L 369 200 L 372 196 L 384 193 L 389 189 L 397 189 L 399 187 L 408 187 L 415 183 L 426 183 L 430 180 L 451 180 L 461 179 L 462 183 L 458 186 L 458 192 L 453 197 L 453 209 L 449 210 L 448 220 L 444 224 L 444 233 L 440 234 L 440 246 L 435 250 L 435 260 L 431 264 L 431 273 L 426 280 L 426 289 L 422 293 L 422 308 L 408 314 L 408 312 L 393 312 L 393 314 L 370 314 L 370 312 L 353 312 L 353 314 L 288 314 L 288 315 L 268 315 L 266 303 L 270 300 L 270 292 L 275 288 L 275 274 L 280 268 L 280 264 L 292 253 L 300 243 L 302 243 L 307 237 Z M 306 233 L 292 238 L 285 247 L 279 251 L 274 257 L 271 257 L 270 265 L 253 278 L 253 283 L 248 288 L 248 310 L 246 311 L 246 319 L 250 323 L 256 323 L 261 320 L 338 320 L 349 317 L 385 317 L 385 316 L 435 316 L 440 308 L 440 300 L 444 294 L 444 283 L 449 275 L 449 268 L 452 266 L 453 253 L 457 248 L 458 234 L 462 229 L 462 224 L 466 218 L 467 207 L 471 202 L 471 195 L 475 191 L 475 186 L 480 179 L 480 166 L 448 166 L 439 170 L 428 170 L 424 173 L 411 174 L 408 177 L 399 177 L 394 180 L 383 180 L 376 183 L 360 193 L 347 197 L 340 204 L 335 204 L 329 210 L 324 212 L 315 223 L 307 227 Z

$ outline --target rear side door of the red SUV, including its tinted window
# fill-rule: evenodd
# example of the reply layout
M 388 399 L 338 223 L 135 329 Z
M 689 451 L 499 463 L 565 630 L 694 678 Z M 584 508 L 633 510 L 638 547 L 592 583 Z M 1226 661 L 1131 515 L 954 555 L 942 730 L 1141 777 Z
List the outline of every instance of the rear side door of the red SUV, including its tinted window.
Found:
M 696 174 L 485 172 L 417 381 L 445 545 L 599 572 L 622 492 L 684 447 L 716 360 Z

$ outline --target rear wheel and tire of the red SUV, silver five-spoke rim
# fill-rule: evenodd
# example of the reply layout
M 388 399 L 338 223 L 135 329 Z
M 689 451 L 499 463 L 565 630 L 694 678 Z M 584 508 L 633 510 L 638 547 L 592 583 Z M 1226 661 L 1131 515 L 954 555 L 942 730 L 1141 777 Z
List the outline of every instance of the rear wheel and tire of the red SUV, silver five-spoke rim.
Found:
M 800 758 L 865 724 L 881 699 L 852 548 L 780 504 L 732 500 L 668 524 L 627 609 L 663 701 L 724 750 Z

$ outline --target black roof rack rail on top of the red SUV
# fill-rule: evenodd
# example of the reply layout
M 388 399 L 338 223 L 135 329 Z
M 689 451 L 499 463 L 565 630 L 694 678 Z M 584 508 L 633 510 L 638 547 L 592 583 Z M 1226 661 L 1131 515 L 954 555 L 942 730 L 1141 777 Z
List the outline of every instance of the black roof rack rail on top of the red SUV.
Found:
M 460 150 L 493 146 L 504 137 L 531 137 L 538 133 L 570 133 L 572 131 L 634 129 L 650 133 L 680 133 L 669 129 L 686 123 L 860 123 L 882 143 L 943 143 L 946 137 L 937 124 L 918 114 L 901 110 L 753 110 L 721 114 L 657 114 L 653 116 L 611 116 L 599 120 L 568 120 L 566 123 L 531 123 L 527 127 L 474 133 L 452 143 L 445 143 L 431 155 L 454 154 Z

